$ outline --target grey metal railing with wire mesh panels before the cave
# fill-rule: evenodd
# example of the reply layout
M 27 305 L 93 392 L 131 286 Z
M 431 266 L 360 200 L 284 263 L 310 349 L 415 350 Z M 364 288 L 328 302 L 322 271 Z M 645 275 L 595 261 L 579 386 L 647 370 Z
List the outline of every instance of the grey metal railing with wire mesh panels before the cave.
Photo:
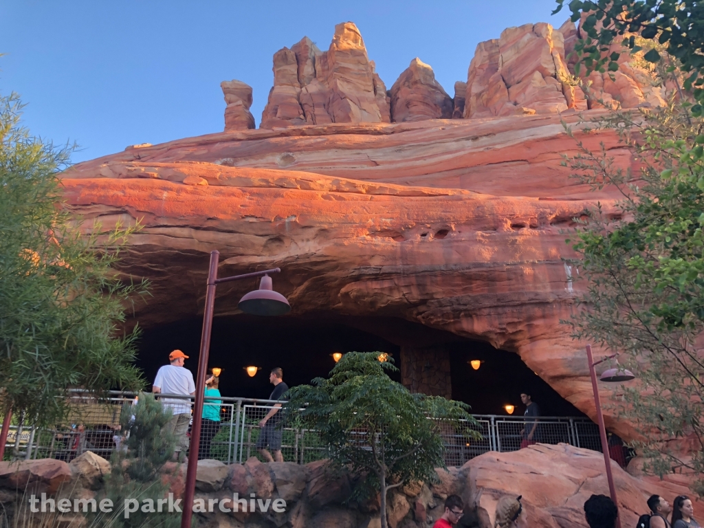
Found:
M 161 394 L 161 397 L 192 399 L 190 396 Z M 110 458 L 124 438 L 120 433 L 120 413 L 125 406 L 135 405 L 135 395 L 113 391 L 100 401 L 75 391 L 71 396 L 71 413 L 65 425 L 54 429 L 18 428 L 8 432 L 8 451 L 13 458 L 56 458 L 69 462 L 84 451 L 93 451 L 103 458 Z M 213 403 L 219 400 L 219 403 Z M 220 421 L 203 420 L 199 458 L 215 458 L 224 463 L 241 463 L 252 455 L 260 456 L 257 442 L 262 429 L 260 420 L 275 403 L 254 398 L 210 398 L 204 403 L 211 411 L 210 417 L 220 416 Z M 280 412 L 280 411 L 279 411 Z M 441 435 L 446 446 L 446 464 L 460 466 L 467 460 L 488 451 L 517 451 L 534 442 L 543 444 L 565 443 L 572 446 L 601 451 L 598 427 L 588 418 L 539 417 L 534 436 L 526 438 L 523 429 L 532 429 L 532 422 L 522 416 L 474 415 L 478 425 L 463 420 L 441 422 Z M 474 440 L 470 429 L 482 434 Z M 18 434 L 19 433 L 19 434 Z M 360 432 L 360 442 L 366 437 Z M 281 451 L 284 460 L 305 464 L 327 457 L 325 446 L 318 432 L 282 423 Z

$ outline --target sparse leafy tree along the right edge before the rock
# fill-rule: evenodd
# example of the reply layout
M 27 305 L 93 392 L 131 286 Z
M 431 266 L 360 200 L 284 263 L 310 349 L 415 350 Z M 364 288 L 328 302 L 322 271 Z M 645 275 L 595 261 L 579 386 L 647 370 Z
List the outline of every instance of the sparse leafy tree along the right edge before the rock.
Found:
M 635 442 L 656 474 L 694 474 L 704 494 L 704 119 L 672 103 L 613 113 L 593 128 L 615 130 L 639 174 L 615 165 L 605 146 L 570 159 L 593 189 L 613 186 L 568 240 L 588 279 L 567 321 L 577 339 L 621 352 L 638 382 L 619 389 L 617 412 L 642 434 Z

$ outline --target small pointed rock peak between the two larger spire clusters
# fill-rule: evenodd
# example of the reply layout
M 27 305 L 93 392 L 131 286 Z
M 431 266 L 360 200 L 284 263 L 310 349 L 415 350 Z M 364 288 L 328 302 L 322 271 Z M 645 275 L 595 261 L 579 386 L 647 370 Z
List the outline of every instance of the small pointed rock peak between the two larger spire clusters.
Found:
M 422 121 L 450 119 L 453 101 L 440 83 L 433 69 L 414 58 L 391 87 L 391 121 Z

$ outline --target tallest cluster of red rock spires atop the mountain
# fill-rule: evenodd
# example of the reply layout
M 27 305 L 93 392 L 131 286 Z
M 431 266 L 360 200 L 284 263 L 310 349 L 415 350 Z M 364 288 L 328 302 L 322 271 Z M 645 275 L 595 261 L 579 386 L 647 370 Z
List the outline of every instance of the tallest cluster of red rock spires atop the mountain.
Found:
M 386 87 L 351 22 L 335 26 L 328 51 L 308 37 L 274 56 L 274 87 L 261 128 L 330 122 L 389 122 Z

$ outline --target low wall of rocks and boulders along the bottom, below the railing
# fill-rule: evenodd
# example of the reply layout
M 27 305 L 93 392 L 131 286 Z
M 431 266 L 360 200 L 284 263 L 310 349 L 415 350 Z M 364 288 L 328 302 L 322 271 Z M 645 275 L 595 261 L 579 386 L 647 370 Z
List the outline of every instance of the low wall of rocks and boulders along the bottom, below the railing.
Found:
M 486 453 L 463 467 L 436 470 L 434 483 L 409 482 L 391 491 L 387 508 L 389 526 L 429 528 L 444 513 L 448 494 L 458 494 L 466 505 L 462 525 L 491 528 L 498 498 L 510 494 L 523 496 L 531 527 L 586 528 L 584 501 L 591 494 L 608 495 L 603 463 L 601 453 L 566 444 L 539 444 L 513 453 Z M 108 469 L 106 460 L 90 452 L 70 464 L 58 460 L 0 463 L 0 512 L 6 512 L 11 521 L 30 494 L 42 491 L 71 500 L 100 498 Z M 689 479 L 683 475 L 668 475 L 660 481 L 643 477 L 635 469 L 634 474 L 629 474 L 616 463 L 612 463 L 612 472 L 624 527 L 636 524 L 639 514 L 646 511 L 646 499 L 651 494 L 664 496 L 670 502 L 674 496 L 689 494 L 686 488 Z M 184 465 L 168 463 L 163 468 L 163 479 L 170 482 L 170 491 L 176 498 L 183 495 L 184 473 Z M 217 460 L 201 460 L 196 501 L 203 501 L 206 512 L 196 516 L 199 527 L 213 528 L 378 528 L 378 496 L 347 501 L 354 485 L 354 478 L 334 470 L 325 460 L 296 465 L 264 464 L 250 458 L 242 465 L 229 466 Z M 286 501 L 285 511 L 225 513 L 214 505 L 214 511 L 208 513 L 210 499 L 217 499 L 227 509 L 232 506 L 233 494 L 238 498 L 253 494 L 263 501 L 282 499 Z M 704 515 L 703 503 L 695 502 L 695 515 Z M 64 521 L 73 521 L 74 527 L 81 525 L 80 515 L 65 517 Z

